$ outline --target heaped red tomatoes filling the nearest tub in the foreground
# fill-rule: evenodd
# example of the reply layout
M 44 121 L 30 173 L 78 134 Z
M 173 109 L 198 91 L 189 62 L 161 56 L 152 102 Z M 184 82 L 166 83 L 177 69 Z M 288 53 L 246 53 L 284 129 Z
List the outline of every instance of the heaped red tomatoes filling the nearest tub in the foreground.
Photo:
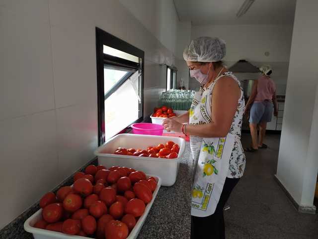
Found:
M 97 239 L 125 239 L 146 205 L 157 180 L 132 168 L 89 165 L 72 186 L 40 200 L 42 219 L 33 227 Z

